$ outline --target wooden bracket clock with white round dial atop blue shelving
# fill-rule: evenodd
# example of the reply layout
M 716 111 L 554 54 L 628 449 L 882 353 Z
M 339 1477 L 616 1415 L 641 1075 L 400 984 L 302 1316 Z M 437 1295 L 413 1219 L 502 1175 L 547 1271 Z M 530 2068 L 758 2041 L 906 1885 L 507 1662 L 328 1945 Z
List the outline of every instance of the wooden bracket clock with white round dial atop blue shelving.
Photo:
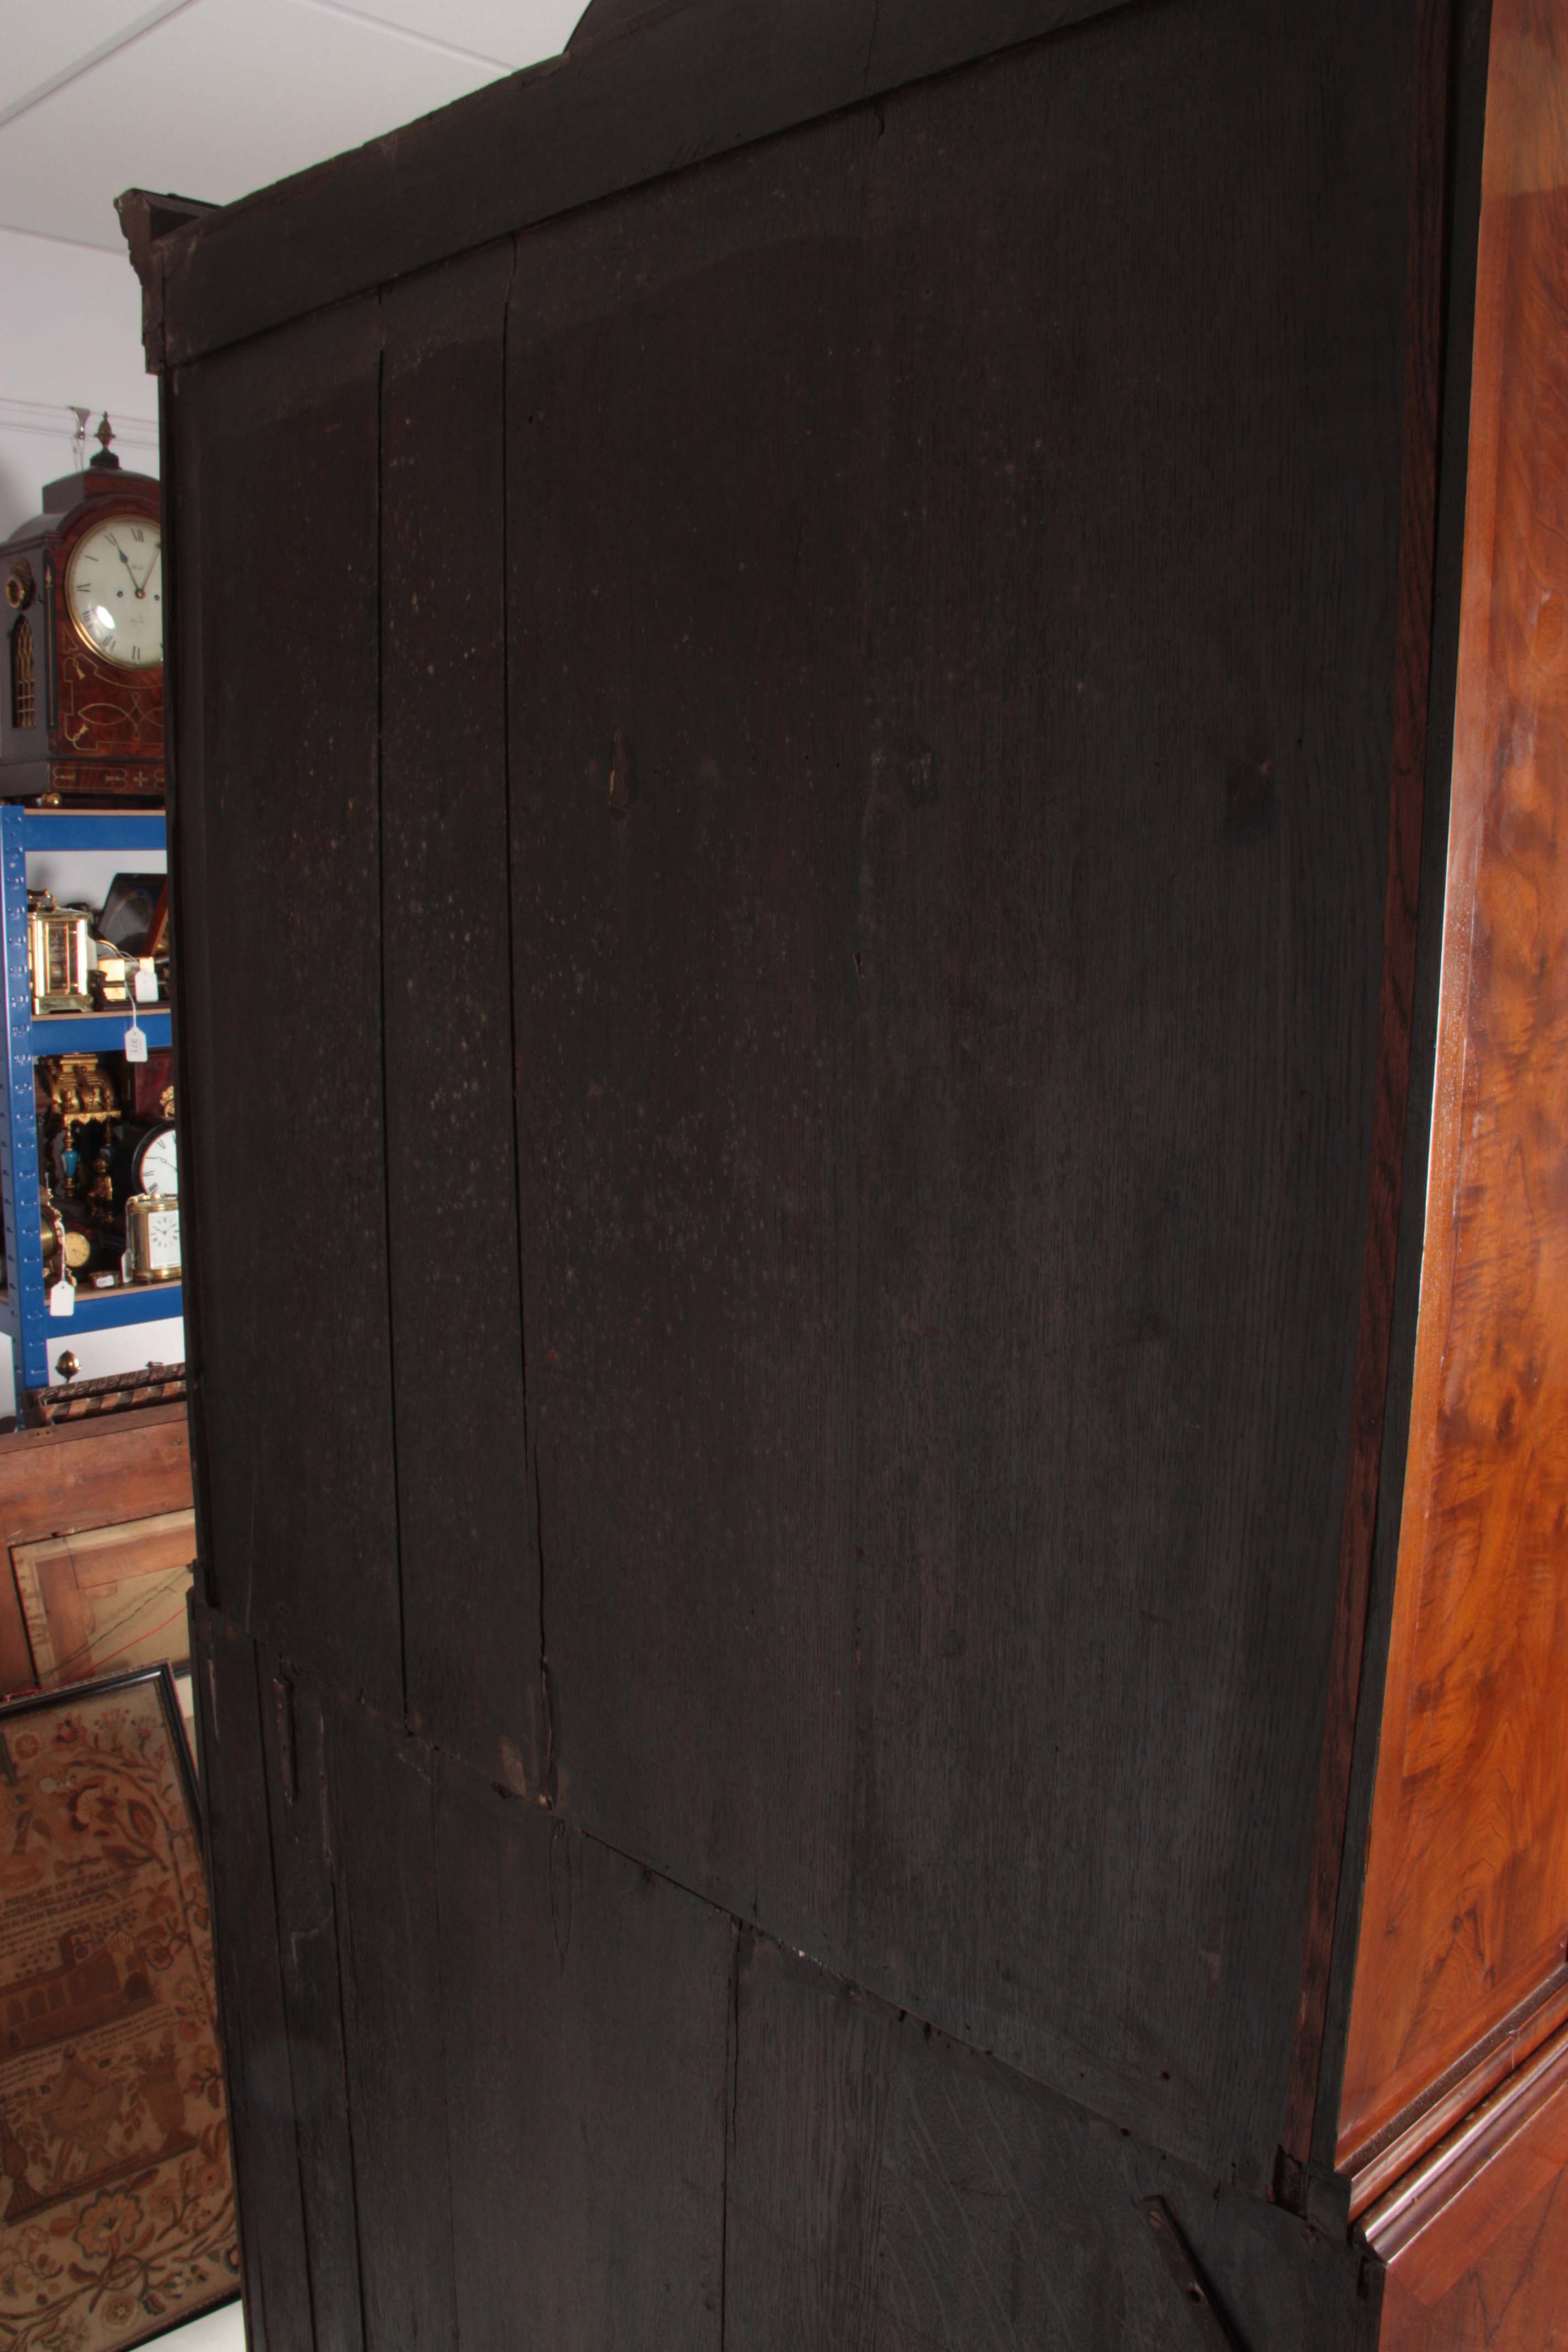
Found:
M 162 800 L 162 529 L 153 475 L 101 449 L 0 546 L 2 800 Z

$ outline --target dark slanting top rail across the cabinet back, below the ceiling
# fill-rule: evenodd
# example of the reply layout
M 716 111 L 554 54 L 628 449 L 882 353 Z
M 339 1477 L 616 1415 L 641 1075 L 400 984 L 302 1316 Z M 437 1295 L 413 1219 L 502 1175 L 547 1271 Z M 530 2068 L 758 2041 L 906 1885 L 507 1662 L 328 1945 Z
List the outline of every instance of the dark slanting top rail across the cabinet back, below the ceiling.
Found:
M 1128 5 L 1150 0 L 969 0 L 961 9 L 950 0 L 689 0 L 639 16 L 153 242 L 132 235 L 148 292 L 148 367 L 195 360 Z M 141 226 L 160 200 L 136 195 Z

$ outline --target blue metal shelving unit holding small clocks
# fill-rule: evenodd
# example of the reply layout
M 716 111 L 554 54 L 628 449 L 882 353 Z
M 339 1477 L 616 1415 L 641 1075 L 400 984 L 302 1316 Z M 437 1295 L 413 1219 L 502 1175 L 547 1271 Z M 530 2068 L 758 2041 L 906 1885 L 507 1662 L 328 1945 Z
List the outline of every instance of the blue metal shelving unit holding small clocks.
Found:
M 0 1101 L 0 1190 L 5 1195 L 5 1298 L 0 1331 L 16 1350 L 16 1385 L 47 1388 L 49 1350 L 71 1345 L 71 1334 L 115 1331 L 125 1324 L 165 1322 L 183 1312 L 179 1282 L 75 1294 L 75 1312 L 49 1315 L 45 1268 L 38 1247 L 38 1112 L 33 1063 L 40 1054 L 115 1054 L 125 1047 L 127 1014 L 80 1014 L 33 1018 L 28 974 L 28 849 L 162 851 L 162 816 L 132 809 L 78 816 L 71 809 L 0 807 L 0 950 L 5 953 L 5 1096 Z M 169 1042 L 167 1004 L 139 1007 L 136 1025 L 148 1047 Z

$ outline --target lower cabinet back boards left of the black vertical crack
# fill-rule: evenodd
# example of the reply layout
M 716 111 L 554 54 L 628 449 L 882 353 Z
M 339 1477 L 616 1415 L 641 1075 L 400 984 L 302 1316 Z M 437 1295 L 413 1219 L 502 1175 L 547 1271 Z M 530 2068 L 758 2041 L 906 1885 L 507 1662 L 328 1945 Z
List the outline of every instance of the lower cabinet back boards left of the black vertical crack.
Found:
M 719 2352 L 731 1919 L 200 1651 L 259 2343 Z

